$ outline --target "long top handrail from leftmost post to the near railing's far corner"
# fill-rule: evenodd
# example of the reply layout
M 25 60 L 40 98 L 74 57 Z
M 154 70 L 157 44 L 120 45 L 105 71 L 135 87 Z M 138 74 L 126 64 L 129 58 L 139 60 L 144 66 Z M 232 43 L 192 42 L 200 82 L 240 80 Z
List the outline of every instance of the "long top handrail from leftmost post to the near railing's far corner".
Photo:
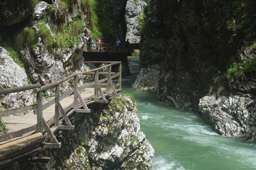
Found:
M 76 76 L 76 75 L 84 74 L 84 73 L 89 73 L 89 72 L 94 72 L 94 71 L 100 70 L 100 69 L 102 69 L 102 68 L 106 68 L 106 67 L 108 67 L 108 66 L 112 66 L 112 65 L 116 65 L 116 64 L 120 64 L 120 63 L 122 63 L 122 62 L 121 62 L 121 61 L 117 61 L 117 62 L 115 62 L 115 63 L 110 63 L 110 64 L 108 64 L 108 65 L 106 65 L 106 66 L 102 66 L 102 67 L 99 67 L 99 68 L 95 68 L 95 69 L 93 69 L 93 70 L 89 70 L 89 71 L 85 71 L 85 72 L 74 73 L 74 74 L 72 74 L 72 75 L 70 75 L 70 76 L 68 76 L 68 77 L 66 77 L 66 78 L 63 78 L 62 80 L 58 80 L 58 81 L 53 82 L 53 83 L 51 83 L 51 84 L 46 84 L 46 85 L 42 86 L 41 88 L 35 88 L 35 89 L 33 90 L 33 92 L 34 92 L 34 93 L 42 92 L 43 90 L 46 90 L 46 89 L 48 89 L 48 88 L 52 88 L 52 87 L 54 87 L 54 86 L 56 86 L 56 85 L 58 85 L 58 84 L 61 84 L 61 83 L 63 83 L 64 81 L 66 81 L 66 80 L 68 80 L 68 79 L 70 79 L 70 78 L 73 78 L 73 77 Z

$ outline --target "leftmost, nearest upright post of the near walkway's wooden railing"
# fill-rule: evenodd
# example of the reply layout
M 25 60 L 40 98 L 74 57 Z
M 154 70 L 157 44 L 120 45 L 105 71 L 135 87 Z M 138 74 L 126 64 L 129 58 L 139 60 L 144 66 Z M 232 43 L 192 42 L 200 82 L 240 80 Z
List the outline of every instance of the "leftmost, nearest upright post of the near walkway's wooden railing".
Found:
M 42 92 L 36 94 L 36 115 L 37 115 L 37 132 L 43 133 L 42 117 L 43 117 L 43 101 Z

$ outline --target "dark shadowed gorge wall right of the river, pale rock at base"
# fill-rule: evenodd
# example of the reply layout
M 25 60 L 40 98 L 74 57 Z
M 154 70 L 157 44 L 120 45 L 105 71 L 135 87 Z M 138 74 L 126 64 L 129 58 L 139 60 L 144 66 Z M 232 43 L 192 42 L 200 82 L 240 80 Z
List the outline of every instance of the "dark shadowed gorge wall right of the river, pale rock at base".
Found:
M 253 0 L 152 0 L 133 86 L 255 140 L 255 10 Z

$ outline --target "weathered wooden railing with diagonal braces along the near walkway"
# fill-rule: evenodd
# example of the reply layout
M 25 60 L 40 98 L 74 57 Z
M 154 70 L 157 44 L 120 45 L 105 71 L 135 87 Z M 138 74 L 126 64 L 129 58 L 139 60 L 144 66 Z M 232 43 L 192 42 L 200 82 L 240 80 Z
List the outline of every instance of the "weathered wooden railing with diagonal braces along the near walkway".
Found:
M 107 103 L 107 100 L 102 92 L 101 86 L 103 84 L 100 84 L 101 82 L 107 81 L 106 84 L 106 93 L 109 96 L 116 96 L 116 88 L 121 90 L 121 62 L 84 62 L 84 63 L 106 63 L 107 65 L 102 66 L 100 68 L 96 68 L 93 70 L 85 71 L 85 72 L 78 72 L 75 74 L 72 74 L 66 78 L 63 78 L 62 80 L 58 80 L 56 82 L 53 82 L 51 84 L 47 84 L 44 86 L 41 86 L 41 84 L 32 84 L 28 86 L 22 86 L 22 87 L 15 87 L 15 88 L 7 88 L 7 89 L 1 89 L 0 94 L 9 94 L 9 93 L 14 93 L 14 92 L 20 92 L 20 91 L 25 91 L 25 90 L 33 90 L 34 93 L 36 93 L 36 104 L 30 105 L 30 106 L 25 106 L 25 107 L 20 107 L 17 109 L 11 109 L 7 111 L 2 111 L 0 112 L 0 117 L 7 116 L 7 115 L 12 115 L 24 111 L 30 111 L 34 110 L 34 114 L 37 115 L 37 124 L 33 125 L 31 127 L 21 129 L 19 131 L 7 133 L 5 135 L 0 135 L 0 142 L 6 141 L 8 139 L 12 139 L 21 135 L 24 135 L 25 133 L 29 133 L 31 131 L 37 131 L 38 133 L 46 133 L 49 135 L 52 143 L 44 143 L 44 147 L 61 147 L 61 143 L 58 142 L 56 139 L 54 133 L 50 129 L 50 126 L 55 123 L 55 126 L 57 129 L 69 129 L 72 130 L 74 129 L 74 126 L 70 123 L 70 120 L 68 119 L 68 116 L 66 115 L 66 112 L 70 109 L 74 109 L 75 112 L 80 112 L 80 113 L 89 113 L 90 109 L 88 109 L 87 105 L 85 104 L 79 90 L 82 90 L 84 88 L 88 88 L 90 86 L 94 86 L 94 95 L 89 96 L 88 98 L 94 98 L 95 102 L 100 102 L 100 103 Z M 118 72 L 111 72 L 111 66 L 118 64 Z M 108 68 L 108 72 L 101 72 L 99 73 L 99 70 L 103 68 Z M 78 75 L 95 75 L 95 81 L 89 84 L 85 84 L 84 86 L 78 87 Z M 106 78 L 103 78 L 102 80 L 99 80 L 99 75 L 107 75 Z M 118 84 L 113 84 L 112 79 L 118 77 Z M 60 84 L 63 82 L 74 79 L 74 88 L 72 90 L 69 90 L 68 92 L 60 95 Z M 103 86 L 104 86 L 103 85 Z M 42 104 L 42 91 L 45 91 L 50 88 L 55 87 L 55 98 L 47 102 L 46 104 Z M 110 90 L 113 91 L 114 94 L 110 94 Z M 74 103 L 70 104 L 68 107 L 65 109 L 62 108 L 60 104 L 60 100 L 66 98 L 67 96 L 70 96 L 71 94 L 74 93 Z M 102 100 L 99 100 L 98 93 L 100 94 L 100 98 Z M 82 107 L 84 109 L 79 109 L 78 108 L 78 98 L 82 104 Z M 55 116 L 48 122 L 43 117 L 43 110 L 50 107 L 51 105 L 55 104 Z M 61 114 L 60 114 L 61 113 Z M 59 119 L 60 117 L 63 117 L 64 121 L 66 122 L 66 125 L 59 125 Z

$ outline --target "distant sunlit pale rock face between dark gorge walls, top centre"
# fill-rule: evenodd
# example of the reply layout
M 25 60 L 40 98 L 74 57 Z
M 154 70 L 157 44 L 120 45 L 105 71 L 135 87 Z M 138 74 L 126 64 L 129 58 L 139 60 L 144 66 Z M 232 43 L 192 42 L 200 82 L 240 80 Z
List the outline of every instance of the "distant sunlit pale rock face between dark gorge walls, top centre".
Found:
M 140 41 L 139 22 L 144 20 L 143 11 L 148 0 L 128 0 L 125 8 L 125 21 L 127 25 L 126 39 L 130 42 Z

